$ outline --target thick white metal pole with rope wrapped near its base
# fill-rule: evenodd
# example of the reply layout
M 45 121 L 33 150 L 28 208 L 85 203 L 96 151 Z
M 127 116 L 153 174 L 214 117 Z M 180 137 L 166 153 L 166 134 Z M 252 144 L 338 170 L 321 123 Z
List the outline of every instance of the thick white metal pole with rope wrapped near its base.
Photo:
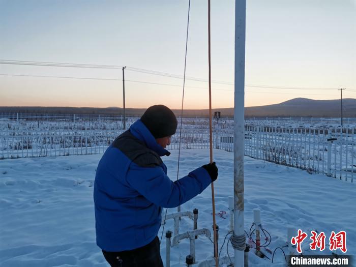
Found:
M 244 235 L 244 98 L 245 98 L 246 0 L 235 0 L 235 90 L 234 90 L 234 234 Z M 244 250 L 234 250 L 234 266 L 243 267 Z

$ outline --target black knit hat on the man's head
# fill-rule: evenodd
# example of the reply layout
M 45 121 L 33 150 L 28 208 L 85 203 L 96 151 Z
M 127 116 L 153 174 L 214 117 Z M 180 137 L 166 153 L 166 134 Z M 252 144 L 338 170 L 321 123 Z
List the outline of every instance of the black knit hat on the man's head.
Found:
M 164 105 L 147 108 L 141 117 L 141 122 L 155 138 L 173 135 L 177 129 L 177 118 L 173 111 Z

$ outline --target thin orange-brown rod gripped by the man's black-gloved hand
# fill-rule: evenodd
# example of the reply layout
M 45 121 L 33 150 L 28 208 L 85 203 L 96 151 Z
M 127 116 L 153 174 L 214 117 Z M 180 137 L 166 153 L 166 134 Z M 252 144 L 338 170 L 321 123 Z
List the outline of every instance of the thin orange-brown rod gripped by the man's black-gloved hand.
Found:
M 207 0 L 207 32 L 208 32 L 208 61 L 209 61 L 209 133 L 210 133 L 210 163 L 213 163 L 213 127 L 212 127 L 212 63 L 210 46 L 210 0 Z M 218 267 L 218 242 L 215 220 L 215 194 L 214 182 L 212 182 L 212 204 L 213 204 L 213 229 L 214 229 L 214 257 L 215 265 Z

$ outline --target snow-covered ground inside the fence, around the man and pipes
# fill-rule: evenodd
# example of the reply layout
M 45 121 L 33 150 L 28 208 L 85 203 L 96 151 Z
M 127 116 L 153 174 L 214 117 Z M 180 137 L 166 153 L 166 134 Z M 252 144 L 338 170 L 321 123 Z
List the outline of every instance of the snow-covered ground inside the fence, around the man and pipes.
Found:
M 176 177 L 178 151 L 164 157 L 168 174 Z M 95 243 L 93 184 L 101 155 L 21 158 L 0 161 L 0 266 L 108 266 Z M 229 229 L 228 197 L 233 194 L 233 154 L 214 150 L 219 167 L 215 183 L 219 249 Z M 209 150 L 183 150 L 180 176 L 209 162 Z M 306 171 L 245 158 L 245 229 L 253 222 L 253 209 L 261 210 L 262 226 L 272 235 L 271 251 L 286 242 L 287 227 L 324 231 L 327 248 L 331 231 L 347 232 L 347 254 L 356 254 L 356 184 Z M 182 211 L 199 209 L 198 228 L 212 226 L 211 189 L 182 206 Z M 176 209 L 168 210 L 168 214 Z M 192 229 L 189 218 L 181 221 L 180 232 Z M 165 229 L 173 231 L 173 221 Z M 161 228 L 162 230 L 162 228 Z M 161 234 L 161 231 L 160 233 Z M 305 254 L 310 240 L 303 245 Z M 213 256 L 213 245 L 204 236 L 196 240 L 197 261 Z M 226 246 L 226 242 L 225 242 Z M 285 249 L 285 252 L 286 249 Z M 341 253 L 340 250 L 336 251 Z M 233 250 L 229 244 L 229 253 Z M 266 252 L 268 253 L 268 252 Z M 189 241 L 171 248 L 171 266 L 185 266 Z M 222 255 L 226 255 L 226 247 Z M 161 244 L 165 261 L 165 239 Z M 271 254 L 266 254 L 272 257 Z M 251 266 L 284 266 L 281 251 L 275 263 L 249 253 Z

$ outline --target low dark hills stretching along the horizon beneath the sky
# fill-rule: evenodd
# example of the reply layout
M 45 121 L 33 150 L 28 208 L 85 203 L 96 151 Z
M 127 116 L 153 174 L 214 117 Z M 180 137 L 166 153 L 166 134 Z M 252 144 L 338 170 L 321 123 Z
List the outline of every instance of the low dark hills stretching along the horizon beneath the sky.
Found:
M 343 116 L 356 117 L 356 99 L 346 98 L 343 102 Z M 127 115 L 141 115 L 144 108 L 126 108 Z M 221 116 L 233 116 L 233 108 L 216 108 L 221 111 Z M 0 112 L 31 112 L 31 113 L 60 113 L 60 114 L 123 114 L 123 108 L 108 107 L 0 107 Z M 180 116 L 181 110 L 174 109 L 173 112 Z M 185 109 L 184 116 L 206 117 L 209 116 L 207 109 Z M 340 99 L 335 100 L 313 100 L 307 98 L 295 98 L 279 104 L 245 107 L 247 117 L 265 116 L 299 116 L 299 117 L 340 117 Z

